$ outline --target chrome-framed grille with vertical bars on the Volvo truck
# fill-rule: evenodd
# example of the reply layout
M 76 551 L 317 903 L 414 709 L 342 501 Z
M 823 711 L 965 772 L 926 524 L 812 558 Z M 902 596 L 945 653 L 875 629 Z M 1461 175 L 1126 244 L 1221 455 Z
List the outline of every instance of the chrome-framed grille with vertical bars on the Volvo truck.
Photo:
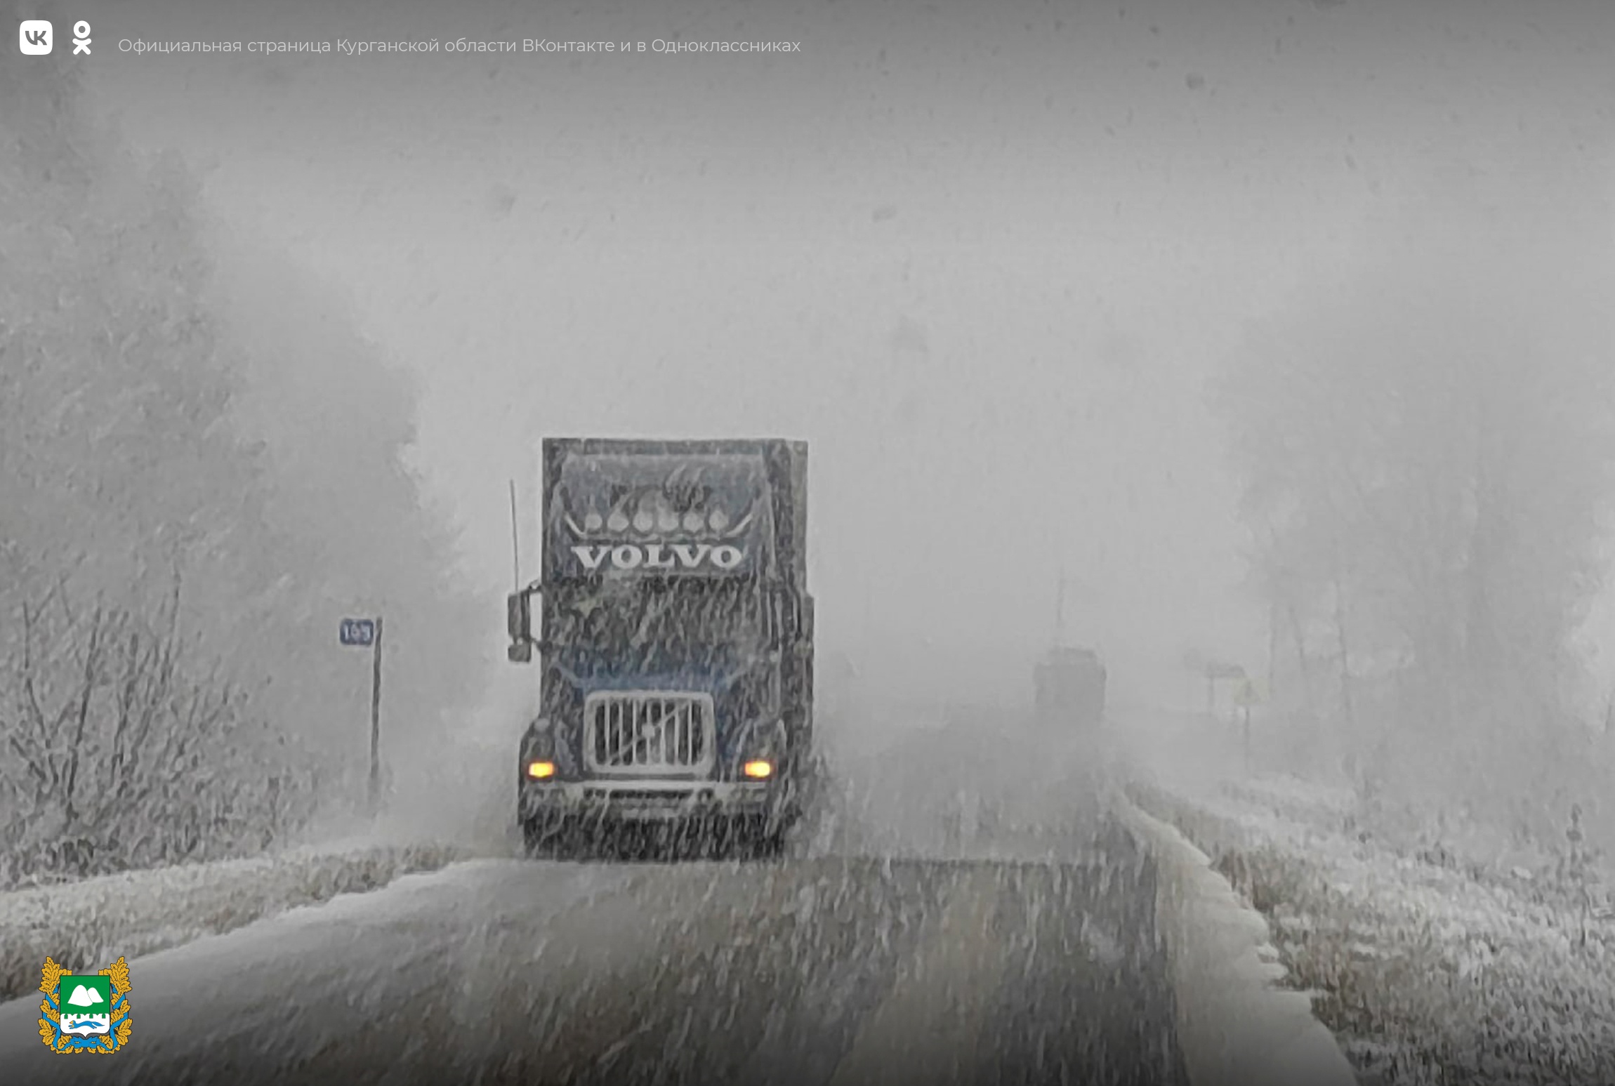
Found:
M 593 771 L 699 775 L 712 768 L 709 694 L 602 691 L 583 705 L 585 765 Z

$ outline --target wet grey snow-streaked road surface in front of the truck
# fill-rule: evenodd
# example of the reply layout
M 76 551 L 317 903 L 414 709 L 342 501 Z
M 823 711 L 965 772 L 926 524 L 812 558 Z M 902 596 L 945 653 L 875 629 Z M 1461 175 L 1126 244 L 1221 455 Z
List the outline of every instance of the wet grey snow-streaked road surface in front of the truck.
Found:
M 1148 846 L 1069 760 L 979 739 L 866 762 L 806 858 L 476 860 L 136 959 L 118 1054 L 0 1005 L 0 1078 L 1184 1081 Z

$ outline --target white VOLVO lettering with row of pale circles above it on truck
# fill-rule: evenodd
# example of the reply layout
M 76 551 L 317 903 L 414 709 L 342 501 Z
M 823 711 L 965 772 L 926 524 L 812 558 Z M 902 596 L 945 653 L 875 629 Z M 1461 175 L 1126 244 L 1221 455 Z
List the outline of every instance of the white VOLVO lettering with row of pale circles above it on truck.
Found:
M 564 513 L 567 528 L 583 541 L 572 553 L 591 573 L 607 560 L 614 570 L 733 570 L 746 558 L 736 542 L 756 518 L 757 502 L 738 516 L 722 507 L 677 510 L 661 487 L 625 495 L 607 513 Z

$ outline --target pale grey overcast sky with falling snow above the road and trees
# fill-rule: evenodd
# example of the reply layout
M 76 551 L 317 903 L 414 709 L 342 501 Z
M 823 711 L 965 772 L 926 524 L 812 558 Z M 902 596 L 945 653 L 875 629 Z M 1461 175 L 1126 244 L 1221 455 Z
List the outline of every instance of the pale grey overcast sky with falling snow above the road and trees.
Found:
M 1071 636 L 1248 658 L 1203 408 L 1242 323 L 1521 139 L 1615 195 L 1602 2 L 339 6 L 86 3 L 58 40 L 87 18 L 124 134 L 420 374 L 473 578 L 541 434 L 799 436 L 832 645 L 1035 649 L 1064 565 Z M 801 52 L 118 48 L 460 36 Z

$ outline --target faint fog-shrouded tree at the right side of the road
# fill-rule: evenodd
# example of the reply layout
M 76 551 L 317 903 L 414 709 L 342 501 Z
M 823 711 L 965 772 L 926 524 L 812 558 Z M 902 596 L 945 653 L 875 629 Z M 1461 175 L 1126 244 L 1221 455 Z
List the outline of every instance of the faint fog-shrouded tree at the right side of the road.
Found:
M 1216 387 L 1289 691 L 1376 773 L 1473 794 L 1570 757 L 1615 463 L 1609 208 L 1571 165 L 1444 176 Z

